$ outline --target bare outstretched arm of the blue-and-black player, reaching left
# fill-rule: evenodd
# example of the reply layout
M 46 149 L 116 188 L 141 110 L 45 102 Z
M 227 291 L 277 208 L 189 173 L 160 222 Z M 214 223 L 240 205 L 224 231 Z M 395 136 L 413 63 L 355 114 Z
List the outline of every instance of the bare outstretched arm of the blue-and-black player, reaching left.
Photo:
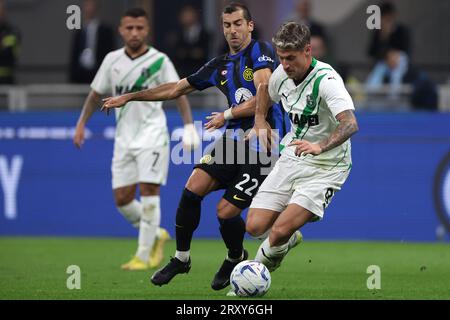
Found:
M 121 108 L 130 101 L 166 101 L 173 100 L 195 91 L 187 79 L 162 84 L 156 88 L 127 93 L 118 97 L 103 99 L 102 111 Z

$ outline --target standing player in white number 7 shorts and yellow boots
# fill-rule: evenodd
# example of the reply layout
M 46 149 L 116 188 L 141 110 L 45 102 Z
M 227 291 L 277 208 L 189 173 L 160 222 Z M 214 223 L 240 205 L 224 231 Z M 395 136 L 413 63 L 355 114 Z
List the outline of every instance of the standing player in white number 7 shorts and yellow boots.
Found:
M 104 95 L 122 95 L 177 82 L 179 77 L 164 53 L 149 47 L 149 20 L 143 9 L 130 9 L 119 26 L 125 47 L 109 53 L 94 81 L 77 123 L 74 143 L 81 147 L 85 125 Z M 177 100 L 185 124 L 183 144 L 196 148 L 200 139 L 192 122 L 186 96 Z M 139 228 L 138 249 L 126 270 L 157 267 L 163 259 L 163 244 L 169 238 L 159 228 L 160 186 L 166 183 L 169 166 L 169 134 L 162 102 L 131 102 L 116 112 L 116 135 L 112 160 L 112 187 L 120 213 Z M 135 199 L 139 185 L 140 201 Z M 156 240 L 155 240 L 156 239 Z

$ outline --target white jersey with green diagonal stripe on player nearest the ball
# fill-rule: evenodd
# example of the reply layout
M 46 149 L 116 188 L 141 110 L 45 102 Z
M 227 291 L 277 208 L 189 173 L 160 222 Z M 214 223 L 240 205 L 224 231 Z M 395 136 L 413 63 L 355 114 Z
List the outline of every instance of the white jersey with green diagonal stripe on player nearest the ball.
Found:
M 342 78 L 329 64 L 313 59 L 309 71 L 298 85 L 289 79 L 282 65 L 270 78 L 270 97 L 274 102 L 282 102 L 291 120 L 291 131 L 281 141 L 281 153 L 325 169 L 350 168 L 350 140 L 318 156 L 297 157 L 295 146 L 288 147 L 296 139 L 319 143 L 338 126 L 337 114 L 354 110 L 352 98 Z

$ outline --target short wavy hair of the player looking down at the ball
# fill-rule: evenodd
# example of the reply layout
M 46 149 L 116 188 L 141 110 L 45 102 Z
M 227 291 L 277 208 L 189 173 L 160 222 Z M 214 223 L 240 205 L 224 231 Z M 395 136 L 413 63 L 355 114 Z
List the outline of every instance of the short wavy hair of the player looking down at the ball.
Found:
M 281 25 L 272 42 L 282 50 L 303 50 L 311 43 L 311 31 L 303 23 L 286 22 Z

